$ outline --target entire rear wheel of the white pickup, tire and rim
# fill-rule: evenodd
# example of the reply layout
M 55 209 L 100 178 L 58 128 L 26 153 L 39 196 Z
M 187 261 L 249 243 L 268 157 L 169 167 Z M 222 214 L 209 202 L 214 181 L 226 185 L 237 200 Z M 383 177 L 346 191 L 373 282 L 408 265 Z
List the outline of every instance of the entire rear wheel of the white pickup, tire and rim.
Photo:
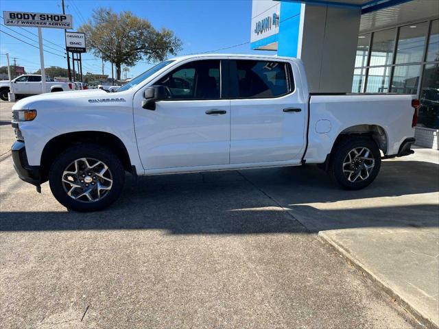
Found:
M 379 147 L 368 136 L 348 136 L 335 146 L 329 161 L 331 178 L 347 190 L 372 183 L 381 167 Z

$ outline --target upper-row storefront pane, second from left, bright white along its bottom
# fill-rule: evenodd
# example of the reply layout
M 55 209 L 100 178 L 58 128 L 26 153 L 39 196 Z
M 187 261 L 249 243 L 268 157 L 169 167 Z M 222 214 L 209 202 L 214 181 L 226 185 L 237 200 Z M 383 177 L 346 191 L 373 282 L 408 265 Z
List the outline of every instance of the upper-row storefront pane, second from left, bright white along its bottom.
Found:
M 370 66 L 392 64 L 396 29 L 375 32 L 372 38 Z

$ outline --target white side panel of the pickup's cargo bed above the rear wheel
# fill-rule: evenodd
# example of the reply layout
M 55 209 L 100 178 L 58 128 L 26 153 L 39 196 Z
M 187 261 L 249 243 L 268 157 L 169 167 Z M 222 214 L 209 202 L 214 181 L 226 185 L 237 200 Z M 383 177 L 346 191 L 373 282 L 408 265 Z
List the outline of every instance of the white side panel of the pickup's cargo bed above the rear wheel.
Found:
M 372 134 L 385 156 L 414 136 L 414 108 L 407 94 L 310 93 L 307 162 L 322 163 L 339 134 Z

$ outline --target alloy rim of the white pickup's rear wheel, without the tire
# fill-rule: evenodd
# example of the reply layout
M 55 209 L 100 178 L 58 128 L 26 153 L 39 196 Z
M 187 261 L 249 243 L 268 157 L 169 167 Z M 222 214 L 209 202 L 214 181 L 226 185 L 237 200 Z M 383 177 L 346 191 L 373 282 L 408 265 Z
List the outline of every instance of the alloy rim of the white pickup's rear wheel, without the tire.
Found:
M 368 179 L 375 158 L 367 147 L 357 147 L 348 152 L 343 161 L 343 173 L 349 182 L 362 182 Z

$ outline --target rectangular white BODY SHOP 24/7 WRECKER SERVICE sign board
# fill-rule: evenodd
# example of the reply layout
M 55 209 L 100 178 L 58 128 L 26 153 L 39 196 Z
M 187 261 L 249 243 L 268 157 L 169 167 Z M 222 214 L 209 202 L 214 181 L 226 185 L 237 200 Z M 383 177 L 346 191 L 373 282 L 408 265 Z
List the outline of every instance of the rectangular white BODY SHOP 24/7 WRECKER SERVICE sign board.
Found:
M 3 12 L 5 25 L 23 27 L 49 27 L 73 29 L 73 19 L 68 14 L 45 14 L 41 12 Z

